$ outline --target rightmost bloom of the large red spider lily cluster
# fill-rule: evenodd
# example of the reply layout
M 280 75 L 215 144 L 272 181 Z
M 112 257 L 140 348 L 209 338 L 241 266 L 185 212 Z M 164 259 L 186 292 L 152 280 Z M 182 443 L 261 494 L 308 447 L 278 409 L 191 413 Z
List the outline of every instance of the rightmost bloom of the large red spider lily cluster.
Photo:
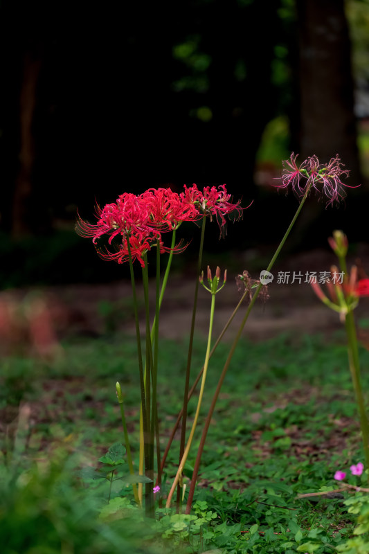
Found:
M 185 185 L 184 188 L 184 193 L 181 193 L 183 202 L 195 206 L 199 213 L 210 215 L 210 220 L 213 220 L 213 215 L 215 215 L 221 235 L 224 234 L 226 225 L 224 216 L 235 212 L 237 214 L 235 219 L 239 220 L 242 217 L 243 209 L 246 209 L 240 207 L 240 202 L 236 204 L 230 202 L 231 195 L 228 195 L 225 185 L 221 185 L 218 188 L 206 186 L 202 193 L 195 184 L 191 187 Z

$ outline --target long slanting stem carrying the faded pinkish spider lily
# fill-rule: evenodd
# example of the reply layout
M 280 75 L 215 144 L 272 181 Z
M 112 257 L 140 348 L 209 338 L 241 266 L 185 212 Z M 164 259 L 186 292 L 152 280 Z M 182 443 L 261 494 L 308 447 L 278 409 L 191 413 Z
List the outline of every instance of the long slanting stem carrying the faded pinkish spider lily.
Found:
M 289 236 L 289 233 L 291 232 L 291 229 L 293 228 L 293 226 L 294 226 L 294 224 L 295 224 L 295 222 L 298 218 L 298 215 L 300 214 L 300 211 L 303 208 L 303 205 L 305 204 L 305 200 L 307 199 L 307 195 L 309 194 L 309 189 L 310 188 L 307 189 L 307 191 L 305 193 L 305 196 L 301 200 L 301 202 L 300 202 L 300 204 L 297 208 L 297 211 L 296 211 L 291 223 L 289 224 L 289 227 L 288 227 L 287 231 L 285 232 L 284 237 L 280 241 L 280 244 L 279 244 L 278 248 L 276 249 L 276 252 L 274 253 L 273 258 L 271 258 L 271 261 L 269 262 L 269 266 L 267 267 L 267 271 L 270 271 L 271 268 L 274 265 L 274 262 L 276 262 L 276 259 L 278 258 L 278 255 L 279 255 L 280 251 L 282 250 L 282 247 L 284 246 L 284 244 L 287 240 L 287 237 Z M 249 319 L 249 314 L 250 314 L 250 312 L 253 308 L 253 305 L 255 304 L 256 298 L 258 298 L 258 295 L 259 295 L 259 292 L 260 292 L 261 288 L 262 288 L 262 283 L 260 283 L 258 285 L 258 287 L 255 289 L 255 293 L 253 294 L 253 297 L 251 298 L 251 302 L 249 304 L 249 307 L 246 310 L 246 313 L 244 315 L 244 319 L 242 319 L 242 323 L 240 325 L 239 330 L 237 331 L 237 334 L 236 334 L 235 339 L 233 341 L 233 344 L 231 346 L 231 350 L 228 353 L 226 363 L 224 364 L 224 368 L 222 370 L 222 375 L 219 377 L 219 382 L 217 384 L 217 388 L 215 390 L 213 400 L 211 402 L 210 409 L 208 411 L 208 415 L 206 416 L 206 421 L 205 421 L 204 429 L 203 429 L 200 444 L 199 444 L 199 449 L 197 451 L 197 456 L 196 456 L 196 460 L 195 460 L 195 466 L 194 466 L 194 470 L 193 470 L 193 473 L 192 473 L 190 492 L 188 494 L 188 501 L 187 501 L 187 506 L 186 506 L 186 513 L 187 514 L 189 514 L 190 511 L 191 511 L 192 499 L 193 499 L 193 495 L 194 495 L 194 492 L 195 492 L 195 486 L 196 486 L 196 481 L 197 481 L 197 474 L 199 473 L 201 455 L 202 455 L 202 452 L 204 450 L 206 436 L 208 434 L 208 429 L 210 427 L 211 418 L 213 417 L 215 404 L 217 403 L 217 399 L 218 399 L 218 396 L 219 396 L 220 389 L 222 388 L 224 377 L 226 377 L 228 367 L 231 364 L 231 359 L 232 359 L 233 354 L 235 352 L 235 348 L 237 346 L 238 341 L 240 340 L 240 337 L 242 335 L 242 331 L 244 330 L 244 325 L 246 324 L 247 319 Z

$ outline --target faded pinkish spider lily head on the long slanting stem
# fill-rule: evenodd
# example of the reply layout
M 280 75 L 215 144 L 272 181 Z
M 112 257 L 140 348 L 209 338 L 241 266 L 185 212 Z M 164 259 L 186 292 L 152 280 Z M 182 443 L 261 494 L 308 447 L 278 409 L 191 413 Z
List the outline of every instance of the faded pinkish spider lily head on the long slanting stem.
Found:
M 298 154 L 292 152 L 289 160 L 283 162 L 282 184 L 278 188 L 291 188 L 298 197 L 304 197 L 309 190 L 314 189 L 316 193 L 328 199 L 327 204 L 339 202 L 345 196 L 343 187 L 348 186 L 341 181 L 342 177 L 348 177 L 350 172 L 344 169 L 343 163 L 338 154 L 331 158 L 329 163 L 319 163 L 314 155 L 307 158 L 298 166 L 296 159 Z

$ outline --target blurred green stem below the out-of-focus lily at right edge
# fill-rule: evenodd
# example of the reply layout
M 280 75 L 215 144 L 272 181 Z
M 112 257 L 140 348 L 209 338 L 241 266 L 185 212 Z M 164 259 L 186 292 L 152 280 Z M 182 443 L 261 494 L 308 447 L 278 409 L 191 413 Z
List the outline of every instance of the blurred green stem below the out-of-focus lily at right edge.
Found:
M 354 313 L 349 310 L 345 316 L 345 328 L 348 336 L 348 361 L 352 384 L 354 386 L 357 407 L 359 410 L 361 436 L 363 438 L 363 448 L 366 461 L 366 467 L 369 467 L 369 425 L 366 415 L 363 391 L 361 388 L 359 349 L 357 346 L 357 333 L 355 328 Z

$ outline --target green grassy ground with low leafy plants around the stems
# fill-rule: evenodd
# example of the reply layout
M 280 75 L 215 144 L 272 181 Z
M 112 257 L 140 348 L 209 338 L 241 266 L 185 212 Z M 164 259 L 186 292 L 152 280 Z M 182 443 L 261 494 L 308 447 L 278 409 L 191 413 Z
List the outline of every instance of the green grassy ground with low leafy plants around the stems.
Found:
M 352 535 L 354 516 L 343 504 L 349 495 L 297 496 L 337 488 L 334 472 L 363 460 L 344 342 L 343 334 L 330 343 L 319 336 L 292 334 L 256 344 L 244 339 L 210 426 L 192 515 L 175 515 L 158 504 L 156 522 L 144 521 L 134 508 L 124 465 L 123 478 L 112 485 L 110 503 L 105 479 L 90 479 L 87 473 L 80 477 L 83 468 L 101 466 L 98 458 L 111 444 L 123 442 L 117 380 L 138 463 L 140 399 L 134 341 L 114 337 L 65 343 L 63 355 L 50 362 L 4 359 L 0 541 L 6 546 L 2 552 L 334 551 Z M 186 348 L 186 339 L 161 342 L 162 450 L 181 406 Z M 205 344 L 196 341 L 193 376 L 204 351 Z M 203 418 L 226 354 L 226 346 L 219 346 L 210 361 Z M 369 352 L 361 350 L 360 355 L 367 391 Z M 188 425 L 195 400 L 190 402 Z M 201 425 L 198 431 L 185 467 L 187 484 Z M 176 472 L 178 452 L 175 443 L 163 497 Z M 366 480 L 366 476 L 346 479 L 352 484 Z M 35 535 L 35 526 L 42 533 Z

